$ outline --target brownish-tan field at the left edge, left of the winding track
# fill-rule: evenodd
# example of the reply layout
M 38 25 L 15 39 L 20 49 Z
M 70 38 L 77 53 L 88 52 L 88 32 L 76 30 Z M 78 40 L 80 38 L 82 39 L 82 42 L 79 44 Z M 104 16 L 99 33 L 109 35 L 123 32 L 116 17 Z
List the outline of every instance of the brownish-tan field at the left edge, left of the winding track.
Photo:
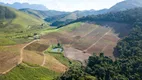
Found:
M 20 60 L 20 50 L 24 45 L 0 46 L 0 73 L 15 67 Z

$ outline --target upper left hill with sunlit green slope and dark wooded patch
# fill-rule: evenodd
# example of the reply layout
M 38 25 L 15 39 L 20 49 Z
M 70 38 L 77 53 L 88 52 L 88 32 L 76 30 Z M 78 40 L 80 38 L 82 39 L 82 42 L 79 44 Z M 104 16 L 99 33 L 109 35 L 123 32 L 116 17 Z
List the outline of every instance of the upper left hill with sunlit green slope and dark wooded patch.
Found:
M 0 6 L 1 8 L 1 22 L 7 21 L 10 19 L 9 24 L 6 26 L 10 26 L 11 24 L 20 25 L 21 27 L 28 27 L 28 25 L 39 25 L 44 21 L 42 19 L 38 19 L 34 16 L 27 15 L 21 11 L 18 11 L 13 8 Z

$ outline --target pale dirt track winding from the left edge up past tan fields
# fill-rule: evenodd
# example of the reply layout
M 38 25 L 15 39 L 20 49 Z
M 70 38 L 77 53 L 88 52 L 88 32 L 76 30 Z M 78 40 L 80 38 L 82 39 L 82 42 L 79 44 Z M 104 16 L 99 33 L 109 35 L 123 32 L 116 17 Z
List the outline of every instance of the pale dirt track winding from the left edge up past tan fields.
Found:
M 24 50 L 24 48 L 27 47 L 28 45 L 32 44 L 33 42 L 36 42 L 36 41 L 37 41 L 37 40 L 34 40 L 34 41 L 32 41 L 32 42 L 30 42 L 30 43 L 28 43 L 28 44 L 26 44 L 25 46 L 22 47 L 22 49 L 20 50 L 20 60 L 18 61 L 17 65 L 21 64 L 22 61 L 23 61 L 23 50 Z M 15 68 L 17 65 L 13 66 L 12 68 L 10 68 L 10 69 L 8 69 L 8 70 L 6 70 L 6 71 L 4 71 L 4 72 L 2 72 L 2 73 L 0 73 L 0 74 L 6 74 L 6 73 L 8 73 L 8 72 L 11 71 L 13 68 Z

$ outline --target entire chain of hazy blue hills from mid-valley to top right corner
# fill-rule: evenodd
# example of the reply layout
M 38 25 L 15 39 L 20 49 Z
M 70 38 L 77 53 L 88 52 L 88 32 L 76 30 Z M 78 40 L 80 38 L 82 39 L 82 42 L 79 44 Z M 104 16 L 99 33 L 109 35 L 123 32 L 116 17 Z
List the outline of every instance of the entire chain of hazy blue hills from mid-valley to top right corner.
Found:
M 45 20 L 47 22 L 51 21 L 52 22 L 51 26 L 60 26 L 63 23 L 71 22 L 83 16 L 99 15 L 99 14 L 105 14 L 105 13 L 110 13 L 110 12 L 119 12 L 119 11 L 125 11 L 128 9 L 134 9 L 138 7 L 142 7 L 141 0 L 125 0 L 125 1 L 115 4 L 109 9 L 74 11 L 74 12 L 69 13 L 68 15 L 62 15 L 62 17 L 54 16 L 51 18 L 50 17 L 46 18 Z

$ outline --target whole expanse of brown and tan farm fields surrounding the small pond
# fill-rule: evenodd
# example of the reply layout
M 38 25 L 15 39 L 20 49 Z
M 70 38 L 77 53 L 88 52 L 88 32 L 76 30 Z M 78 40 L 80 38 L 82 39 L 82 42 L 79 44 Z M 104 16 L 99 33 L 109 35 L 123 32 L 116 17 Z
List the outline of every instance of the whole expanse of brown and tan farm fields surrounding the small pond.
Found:
M 49 32 L 45 30 L 43 33 L 48 34 L 42 35 L 40 39 L 30 43 L 1 46 L 0 62 L 2 63 L 0 63 L 0 72 L 5 72 L 13 66 L 24 62 L 62 73 L 72 63 L 74 64 L 74 60 L 85 64 L 89 56 L 93 53 L 99 55 L 101 52 L 115 59 L 113 56 L 114 47 L 121 38 L 125 37 L 122 35 L 128 35 L 129 28 L 127 27 L 129 25 L 113 22 L 79 22 L 56 30 L 53 29 Z M 9 43 L 15 44 L 12 42 Z M 57 43 L 61 43 L 64 47 L 62 54 L 46 52 L 49 46 Z

